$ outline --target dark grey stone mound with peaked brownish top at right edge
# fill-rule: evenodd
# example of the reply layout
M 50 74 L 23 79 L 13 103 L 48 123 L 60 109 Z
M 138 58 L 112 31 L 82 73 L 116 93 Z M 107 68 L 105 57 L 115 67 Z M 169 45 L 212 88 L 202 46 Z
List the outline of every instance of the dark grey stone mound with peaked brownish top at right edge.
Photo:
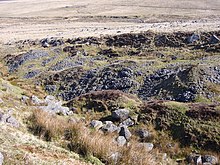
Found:
M 219 66 L 216 69 L 202 66 L 178 66 L 156 71 L 146 76 L 138 90 L 142 99 L 151 97 L 180 102 L 194 101 L 198 94 L 212 96 L 207 90 L 208 83 L 220 84 Z

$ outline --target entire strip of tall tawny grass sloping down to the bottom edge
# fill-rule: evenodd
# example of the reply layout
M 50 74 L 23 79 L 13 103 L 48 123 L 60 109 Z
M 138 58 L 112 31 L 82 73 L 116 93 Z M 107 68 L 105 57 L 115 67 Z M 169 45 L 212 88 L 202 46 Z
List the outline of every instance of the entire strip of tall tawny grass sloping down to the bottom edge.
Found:
M 86 158 L 92 155 L 105 164 L 156 164 L 152 155 L 141 149 L 136 141 L 128 146 L 118 147 L 114 134 L 106 135 L 101 131 L 91 130 L 83 122 L 71 123 L 68 118 L 42 110 L 34 111 L 31 121 L 31 129 L 35 134 L 58 142 L 65 137 L 67 147 Z M 117 152 L 121 153 L 121 157 L 115 162 L 111 155 Z

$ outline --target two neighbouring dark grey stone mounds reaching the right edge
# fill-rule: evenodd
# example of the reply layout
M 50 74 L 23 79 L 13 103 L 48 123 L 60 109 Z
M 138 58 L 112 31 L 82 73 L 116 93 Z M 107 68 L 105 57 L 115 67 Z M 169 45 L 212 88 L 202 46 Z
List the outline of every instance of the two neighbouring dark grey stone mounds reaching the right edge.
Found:
M 220 84 L 219 66 L 174 65 L 153 74 L 144 73 L 139 67 L 112 64 L 89 71 L 76 67 L 47 76 L 43 85 L 47 92 L 58 92 L 64 100 L 101 90 L 121 90 L 137 94 L 143 100 L 156 98 L 180 102 L 194 101 L 199 95 L 217 96 L 208 89 L 210 84 Z M 142 82 L 138 80 L 140 77 Z

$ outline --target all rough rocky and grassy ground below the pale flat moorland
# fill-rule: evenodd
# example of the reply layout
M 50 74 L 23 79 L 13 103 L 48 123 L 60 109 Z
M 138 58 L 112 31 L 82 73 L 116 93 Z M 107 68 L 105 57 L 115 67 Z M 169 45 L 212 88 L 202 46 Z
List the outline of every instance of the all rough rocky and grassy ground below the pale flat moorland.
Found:
M 219 164 L 219 31 L 1 48 L 0 163 Z

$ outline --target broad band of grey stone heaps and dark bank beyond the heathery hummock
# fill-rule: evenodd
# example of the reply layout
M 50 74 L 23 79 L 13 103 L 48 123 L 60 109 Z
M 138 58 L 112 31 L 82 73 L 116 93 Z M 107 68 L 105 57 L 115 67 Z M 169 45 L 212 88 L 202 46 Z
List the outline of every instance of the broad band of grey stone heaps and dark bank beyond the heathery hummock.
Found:
M 210 90 L 209 86 L 220 84 L 219 65 L 209 67 L 210 63 L 203 58 L 219 51 L 219 36 L 220 32 L 216 31 L 143 32 L 66 41 L 51 38 L 40 41 L 49 47 L 47 49 L 8 55 L 4 60 L 10 72 L 25 67 L 27 70 L 22 69 L 22 77 L 37 78 L 37 83 L 41 83 L 49 94 L 66 101 L 91 91 L 121 90 L 137 94 L 144 100 L 191 102 L 198 95 L 212 99 L 218 94 L 218 90 Z M 197 51 L 200 49 L 206 53 Z M 190 59 L 191 55 L 185 55 L 188 51 L 199 65 L 190 61 L 189 64 L 169 62 Z M 123 56 L 126 59 L 119 58 Z M 127 56 L 137 59 L 130 60 Z M 138 60 L 139 56 L 145 60 Z M 167 64 L 161 67 L 161 63 Z

